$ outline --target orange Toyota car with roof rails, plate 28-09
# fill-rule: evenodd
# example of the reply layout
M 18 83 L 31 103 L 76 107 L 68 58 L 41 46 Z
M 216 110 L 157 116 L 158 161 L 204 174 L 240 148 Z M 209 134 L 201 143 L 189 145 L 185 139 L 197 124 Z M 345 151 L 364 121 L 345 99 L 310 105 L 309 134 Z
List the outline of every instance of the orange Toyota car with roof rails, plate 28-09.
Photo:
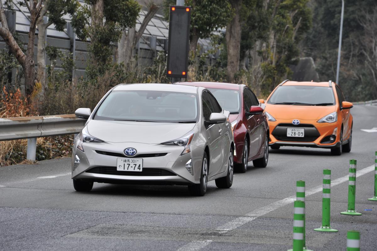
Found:
M 265 114 L 271 149 L 280 146 L 329 148 L 350 152 L 353 118 L 339 85 L 285 80 L 267 98 Z

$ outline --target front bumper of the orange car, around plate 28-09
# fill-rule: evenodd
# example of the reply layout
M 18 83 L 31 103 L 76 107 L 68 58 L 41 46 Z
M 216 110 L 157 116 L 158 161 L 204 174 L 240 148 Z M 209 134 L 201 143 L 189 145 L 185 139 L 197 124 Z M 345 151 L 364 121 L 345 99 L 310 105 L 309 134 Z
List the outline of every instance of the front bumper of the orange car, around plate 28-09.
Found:
M 316 120 L 300 120 L 293 125 L 292 119 L 268 121 L 270 126 L 270 143 L 276 146 L 307 146 L 319 148 L 335 148 L 340 145 L 341 121 L 334 123 L 318 123 Z M 304 137 L 288 137 L 287 128 L 303 128 Z M 330 140 L 333 137 L 335 140 Z

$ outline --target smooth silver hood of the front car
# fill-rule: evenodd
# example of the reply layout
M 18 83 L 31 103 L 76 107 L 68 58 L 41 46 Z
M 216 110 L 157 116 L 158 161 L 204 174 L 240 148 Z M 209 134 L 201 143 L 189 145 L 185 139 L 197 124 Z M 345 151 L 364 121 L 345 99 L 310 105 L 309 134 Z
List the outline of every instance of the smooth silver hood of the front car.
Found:
M 158 144 L 179 139 L 195 125 L 195 123 L 90 120 L 87 123 L 87 130 L 91 136 L 105 142 Z

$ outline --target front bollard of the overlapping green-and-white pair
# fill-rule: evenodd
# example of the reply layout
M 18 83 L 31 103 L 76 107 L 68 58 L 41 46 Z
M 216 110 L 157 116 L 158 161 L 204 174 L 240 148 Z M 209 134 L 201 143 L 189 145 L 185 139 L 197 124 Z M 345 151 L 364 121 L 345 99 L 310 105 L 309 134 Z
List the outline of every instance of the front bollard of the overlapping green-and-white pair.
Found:
M 293 213 L 293 251 L 303 251 L 305 233 L 305 202 L 296 200 Z

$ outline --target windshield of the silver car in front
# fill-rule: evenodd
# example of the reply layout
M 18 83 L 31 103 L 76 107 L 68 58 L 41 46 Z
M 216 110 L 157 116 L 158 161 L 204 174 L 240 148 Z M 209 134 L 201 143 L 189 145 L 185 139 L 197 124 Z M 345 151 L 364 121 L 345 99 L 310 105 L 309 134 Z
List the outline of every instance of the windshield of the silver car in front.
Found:
M 196 123 L 195 94 L 167 91 L 112 91 L 98 108 L 95 120 Z

